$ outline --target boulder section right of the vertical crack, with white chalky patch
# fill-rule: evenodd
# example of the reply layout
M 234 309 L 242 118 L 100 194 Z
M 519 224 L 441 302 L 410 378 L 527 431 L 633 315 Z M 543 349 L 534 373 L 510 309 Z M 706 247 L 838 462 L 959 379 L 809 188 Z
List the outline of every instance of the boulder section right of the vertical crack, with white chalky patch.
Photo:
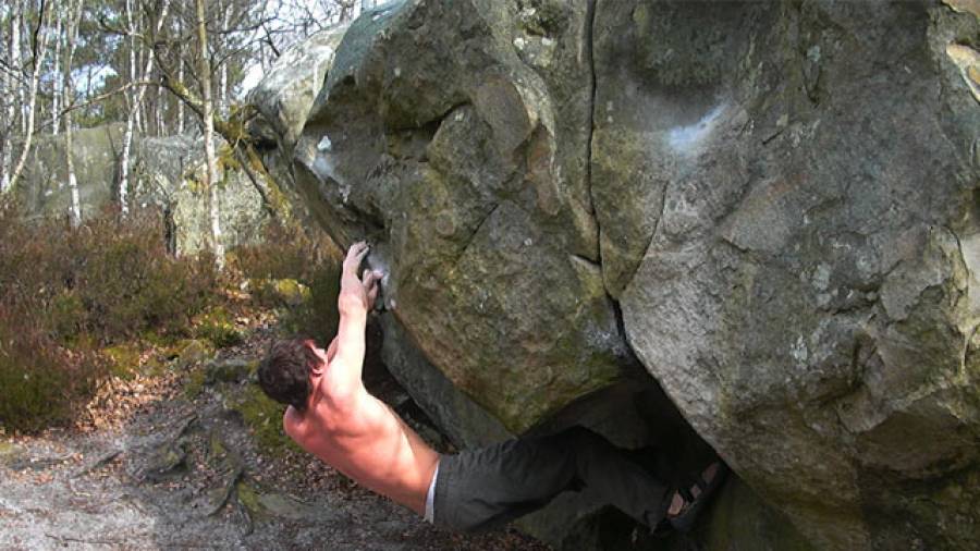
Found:
M 945 50 L 977 21 L 624 2 L 596 28 L 603 270 L 640 359 L 820 547 L 975 547 L 980 110 Z

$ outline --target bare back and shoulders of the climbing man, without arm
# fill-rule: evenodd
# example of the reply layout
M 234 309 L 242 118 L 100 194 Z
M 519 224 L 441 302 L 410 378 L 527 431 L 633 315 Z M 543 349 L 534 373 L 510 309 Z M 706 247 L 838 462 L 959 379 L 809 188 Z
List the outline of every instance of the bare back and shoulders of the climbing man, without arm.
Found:
M 439 454 L 363 387 L 339 405 L 327 379 L 317 381 L 305 414 L 286 409 L 285 432 L 358 483 L 424 514 Z

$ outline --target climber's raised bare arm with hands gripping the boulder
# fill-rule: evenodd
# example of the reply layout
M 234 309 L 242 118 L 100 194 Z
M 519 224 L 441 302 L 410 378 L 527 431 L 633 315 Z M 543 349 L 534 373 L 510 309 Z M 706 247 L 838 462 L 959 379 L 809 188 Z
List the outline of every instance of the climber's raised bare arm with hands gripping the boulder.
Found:
M 368 245 L 355 243 L 347 250 L 341 273 L 341 291 L 336 298 L 340 326 L 336 333 L 336 352 L 327 371 L 328 395 L 345 402 L 364 390 L 360 372 L 364 366 L 364 332 L 367 314 L 378 296 L 380 273 L 365 270 L 357 277 L 360 262 L 367 256 Z M 331 343 L 333 345 L 333 343 Z

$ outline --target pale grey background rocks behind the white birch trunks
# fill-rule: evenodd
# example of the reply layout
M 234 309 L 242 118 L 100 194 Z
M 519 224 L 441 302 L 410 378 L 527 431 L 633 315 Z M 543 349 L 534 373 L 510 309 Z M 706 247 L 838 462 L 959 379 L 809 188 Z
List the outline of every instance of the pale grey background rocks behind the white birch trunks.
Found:
M 76 131 L 73 140 L 82 217 L 90 217 L 115 201 L 119 159 L 125 126 L 110 124 Z M 135 137 L 131 174 L 137 206 L 157 206 L 173 222 L 172 245 L 181 254 L 207 248 L 210 225 L 204 191 L 204 148 L 188 135 Z M 254 243 L 268 215 L 246 174 L 224 163 L 219 173 L 219 203 L 225 246 Z M 38 136 L 24 179 L 14 193 L 29 216 L 68 216 L 70 192 L 65 176 L 64 138 Z

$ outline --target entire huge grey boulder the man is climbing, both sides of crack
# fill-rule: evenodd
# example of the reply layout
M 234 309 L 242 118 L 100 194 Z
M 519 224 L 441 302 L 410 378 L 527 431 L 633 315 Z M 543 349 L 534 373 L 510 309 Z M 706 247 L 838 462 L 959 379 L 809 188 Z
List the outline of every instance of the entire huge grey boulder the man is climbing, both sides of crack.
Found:
M 389 3 L 338 47 L 295 185 L 376 243 L 419 402 L 500 423 L 463 437 L 548 424 L 635 353 L 809 544 L 976 548 L 980 20 L 955 3 Z

